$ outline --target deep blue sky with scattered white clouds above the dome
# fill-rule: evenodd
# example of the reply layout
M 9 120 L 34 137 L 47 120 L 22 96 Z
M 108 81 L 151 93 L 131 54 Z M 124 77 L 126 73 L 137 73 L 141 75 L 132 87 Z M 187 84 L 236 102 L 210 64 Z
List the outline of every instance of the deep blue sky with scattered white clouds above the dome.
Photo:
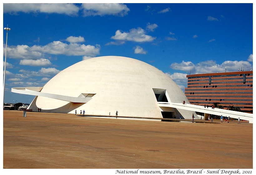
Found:
M 98 56 L 144 61 L 183 91 L 190 70 L 253 68 L 252 3 L 4 3 L 3 28 L 7 25 L 4 102 L 30 103 L 34 96 L 11 88 L 44 86 L 63 69 Z

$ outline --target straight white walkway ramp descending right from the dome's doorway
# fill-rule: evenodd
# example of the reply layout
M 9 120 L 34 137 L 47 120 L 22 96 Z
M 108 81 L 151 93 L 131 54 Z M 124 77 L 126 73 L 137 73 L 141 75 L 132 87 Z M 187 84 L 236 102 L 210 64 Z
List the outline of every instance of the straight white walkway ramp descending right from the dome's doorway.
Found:
M 170 107 L 170 108 L 177 108 L 177 109 L 184 109 L 188 111 L 196 111 L 196 112 L 203 112 L 206 114 L 213 114 L 217 116 L 227 116 L 230 118 L 235 118 L 240 120 L 247 120 L 249 123 L 253 123 L 253 114 L 245 113 L 245 112 L 238 112 L 238 111 L 230 111 L 226 109 L 219 109 L 212 107 L 204 107 L 199 105 L 192 105 L 192 104 L 182 104 L 182 103 L 169 103 L 169 102 L 158 102 L 159 107 Z M 206 119 L 205 119 L 206 120 Z

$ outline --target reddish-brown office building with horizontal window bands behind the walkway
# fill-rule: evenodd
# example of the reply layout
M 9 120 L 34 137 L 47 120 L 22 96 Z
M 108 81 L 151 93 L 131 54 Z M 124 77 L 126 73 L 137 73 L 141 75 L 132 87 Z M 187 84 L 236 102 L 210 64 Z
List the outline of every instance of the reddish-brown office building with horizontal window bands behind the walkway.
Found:
M 191 104 L 218 103 L 224 109 L 234 106 L 241 112 L 253 111 L 253 71 L 202 73 L 187 78 L 185 95 Z

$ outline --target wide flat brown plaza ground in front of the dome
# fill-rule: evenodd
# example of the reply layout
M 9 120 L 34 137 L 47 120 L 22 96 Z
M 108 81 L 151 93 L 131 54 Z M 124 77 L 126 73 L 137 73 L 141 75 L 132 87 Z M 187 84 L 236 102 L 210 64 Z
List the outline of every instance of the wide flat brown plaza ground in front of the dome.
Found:
M 3 168 L 253 168 L 253 124 L 3 111 Z

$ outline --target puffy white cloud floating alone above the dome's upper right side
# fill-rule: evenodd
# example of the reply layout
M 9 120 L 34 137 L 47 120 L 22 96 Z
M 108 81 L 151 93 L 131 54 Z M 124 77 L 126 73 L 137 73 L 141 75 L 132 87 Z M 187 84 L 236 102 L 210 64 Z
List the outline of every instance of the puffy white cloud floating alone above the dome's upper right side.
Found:
M 137 29 L 130 29 L 129 33 L 121 32 L 120 30 L 116 31 L 115 36 L 111 36 L 111 39 L 114 40 L 123 40 L 123 41 L 134 41 L 134 42 L 150 42 L 155 40 L 156 37 L 146 35 L 145 31 L 138 27 Z

